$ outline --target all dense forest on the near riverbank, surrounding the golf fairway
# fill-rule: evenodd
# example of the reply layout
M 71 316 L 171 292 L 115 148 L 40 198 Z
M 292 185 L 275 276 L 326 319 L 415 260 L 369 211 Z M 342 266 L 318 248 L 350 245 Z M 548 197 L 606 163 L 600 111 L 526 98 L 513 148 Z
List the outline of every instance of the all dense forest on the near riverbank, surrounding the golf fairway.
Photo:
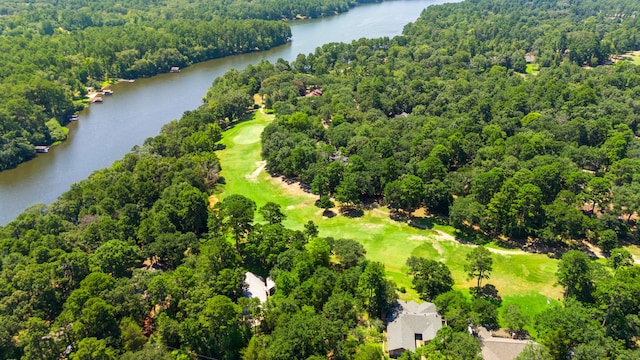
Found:
M 607 60 L 638 49 L 638 7 L 466 1 L 430 7 L 394 39 L 228 72 L 199 109 L 0 228 L 0 357 L 383 356 L 400 289 L 360 243 L 319 237 L 313 222 L 289 229 L 275 203 L 209 203 L 226 181 L 223 131 L 259 94 L 276 114 L 262 135 L 267 169 L 319 200 L 385 205 L 398 219 L 426 207 L 469 241 L 560 258 L 562 302 L 500 317 L 482 286 L 484 247 L 460 259 L 477 280 L 470 293 L 452 290 L 443 263 L 410 257 L 416 292 L 447 326 L 403 359 L 478 359 L 469 325 L 533 330 L 540 346 L 520 359 L 637 359 L 640 267 L 620 245 L 638 237 L 640 67 Z M 583 241 L 606 261 L 572 250 Z M 275 281 L 262 306 L 241 296 L 247 270 Z

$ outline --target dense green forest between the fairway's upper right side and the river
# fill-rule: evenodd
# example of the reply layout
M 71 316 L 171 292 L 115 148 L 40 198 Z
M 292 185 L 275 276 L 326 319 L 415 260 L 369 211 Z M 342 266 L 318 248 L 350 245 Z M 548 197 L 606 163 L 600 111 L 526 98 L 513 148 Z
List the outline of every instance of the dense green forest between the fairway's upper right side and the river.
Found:
M 611 44 L 638 36 L 626 16 L 638 8 L 450 4 L 403 37 L 300 55 L 260 89 L 279 114 L 263 134 L 267 168 L 346 204 L 426 206 L 471 234 L 609 251 L 636 238 L 640 72 L 587 65 L 637 47 Z M 594 52 L 574 57 L 589 30 Z M 525 73 L 525 53 L 538 74 Z

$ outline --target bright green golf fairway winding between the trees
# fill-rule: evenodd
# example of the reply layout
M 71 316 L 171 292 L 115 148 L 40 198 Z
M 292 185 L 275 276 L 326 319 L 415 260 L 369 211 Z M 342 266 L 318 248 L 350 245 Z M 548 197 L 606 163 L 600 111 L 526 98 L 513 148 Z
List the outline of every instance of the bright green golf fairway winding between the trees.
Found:
M 404 299 L 417 300 L 407 276 L 406 259 L 422 256 L 442 260 L 449 266 L 456 287 L 468 289 L 473 281 L 466 278 L 463 266 L 468 245 L 453 239 L 453 228 L 433 225 L 432 229 L 411 227 L 389 218 L 388 209 L 367 210 L 357 218 L 338 215 L 322 216 L 322 209 L 314 206 L 317 196 L 304 193 L 297 185 L 286 185 L 274 179 L 266 171 L 256 174 L 263 163 L 260 158 L 260 133 L 272 119 L 272 115 L 256 112 L 244 122 L 224 133 L 222 143 L 226 148 L 218 156 L 222 164 L 225 185 L 216 194 L 219 200 L 230 194 L 242 194 L 253 199 L 258 207 L 272 201 L 282 206 L 287 215 L 285 225 L 302 229 L 313 220 L 321 236 L 350 238 L 359 241 L 367 250 L 367 258 L 385 264 L 387 274 L 407 292 Z M 257 175 L 257 176 L 256 176 Z M 261 220 L 261 219 L 258 219 Z M 547 298 L 561 297 L 561 288 L 555 285 L 557 261 L 545 255 L 524 253 L 520 250 L 504 250 L 492 244 L 494 269 L 488 283 L 497 287 L 505 303 L 520 304 L 531 313 L 547 306 Z M 466 290 L 465 290 L 466 291 Z

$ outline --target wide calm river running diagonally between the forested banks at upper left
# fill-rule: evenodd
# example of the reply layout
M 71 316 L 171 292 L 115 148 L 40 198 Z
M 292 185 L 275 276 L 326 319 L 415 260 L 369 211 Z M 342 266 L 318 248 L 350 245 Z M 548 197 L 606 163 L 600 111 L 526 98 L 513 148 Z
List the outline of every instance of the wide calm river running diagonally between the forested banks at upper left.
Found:
M 330 42 L 363 37 L 393 37 L 415 21 L 429 5 L 452 0 L 394 0 L 361 5 L 332 17 L 291 23 L 289 44 L 259 53 L 230 56 L 190 66 L 177 74 L 162 74 L 112 87 L 114 94 L 93 104 L 69 125 L 69 139 L 47 154 L 0 172 L 0 225 L 25 208 L 51 203 L 69 186 L 122 158 L 134 145 L 160 132 L 202 103 L 213 79 L 231 68 L 243 69 L 261 60 L 293 61 Z

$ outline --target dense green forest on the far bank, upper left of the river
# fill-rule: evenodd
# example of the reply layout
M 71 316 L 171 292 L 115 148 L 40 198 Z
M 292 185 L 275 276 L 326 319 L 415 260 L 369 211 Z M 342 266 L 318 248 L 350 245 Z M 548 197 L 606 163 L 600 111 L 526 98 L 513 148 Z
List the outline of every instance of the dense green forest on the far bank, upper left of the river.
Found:
M 365 2 L 365 1 L 361 1 Z M 87 87 L 266 50 L 356 1 L 0 1 L 0 171 L 66 139 Z

